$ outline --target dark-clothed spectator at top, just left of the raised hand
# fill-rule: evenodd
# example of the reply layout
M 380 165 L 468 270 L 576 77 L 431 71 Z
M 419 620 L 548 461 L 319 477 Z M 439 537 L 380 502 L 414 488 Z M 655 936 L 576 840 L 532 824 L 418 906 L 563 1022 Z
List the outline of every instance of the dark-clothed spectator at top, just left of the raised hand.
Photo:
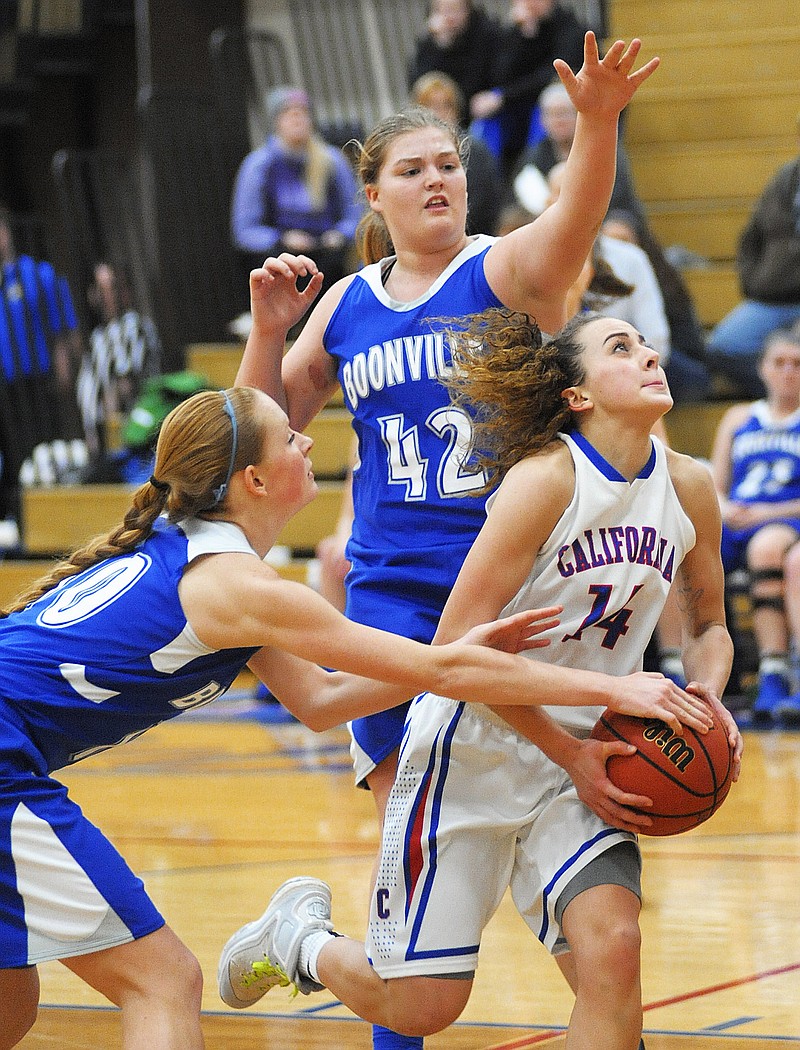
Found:
M 473 96 L 469 104 L 476 121 L 490 125 L 508 175 L 531 139 L 541 138 L 538 104 L 544 88 L 556 81 L 553 59 L 562 59 L 573 72 L 581 68 L 584 26 L 570 7 L 559 0 L 509 0 L 509 25 L 492 49 L 492 84 Z

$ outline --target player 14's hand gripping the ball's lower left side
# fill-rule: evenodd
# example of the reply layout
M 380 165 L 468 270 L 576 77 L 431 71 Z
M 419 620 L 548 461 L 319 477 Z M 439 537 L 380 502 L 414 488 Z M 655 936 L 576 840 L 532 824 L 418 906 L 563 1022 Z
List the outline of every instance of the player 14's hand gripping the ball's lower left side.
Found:
M 606 763 L 612 755 L 632 755 L 636 749 L 624 740 L 581 740 L 567 768 L 577 797 L 607 824 L 624 832 L 647 832 L 652 820 L 645 813 L 653 804 L 646 795 L 632 795 L 612 783 Z

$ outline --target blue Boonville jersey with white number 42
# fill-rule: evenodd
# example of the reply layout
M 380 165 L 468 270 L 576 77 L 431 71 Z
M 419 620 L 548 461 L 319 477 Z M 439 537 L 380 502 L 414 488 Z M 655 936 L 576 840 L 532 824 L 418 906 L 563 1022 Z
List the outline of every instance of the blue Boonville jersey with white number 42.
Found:
M 353 542 L 371 550 L 470 543 L 484 520 L 484 484 L 467 462 L 469 417 L 440 377 L 450 364 L 442 318 L 502 307 L 484 276 L 492 238 L 469 242 L 419 299 L 394 300 L 383 259 L 361 270 L 331 318 L 325 350 L 337 360 L 354 417 Z

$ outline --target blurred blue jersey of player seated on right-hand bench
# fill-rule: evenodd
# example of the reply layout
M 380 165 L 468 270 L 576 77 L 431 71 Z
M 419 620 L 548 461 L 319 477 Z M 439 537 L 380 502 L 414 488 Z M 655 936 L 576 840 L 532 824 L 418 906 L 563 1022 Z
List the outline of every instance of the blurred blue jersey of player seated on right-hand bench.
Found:
M 730 498 L 737 503 L 800 499 L 800 408 L 776 420 L 766 401 L 754 403 L 731 442 Z

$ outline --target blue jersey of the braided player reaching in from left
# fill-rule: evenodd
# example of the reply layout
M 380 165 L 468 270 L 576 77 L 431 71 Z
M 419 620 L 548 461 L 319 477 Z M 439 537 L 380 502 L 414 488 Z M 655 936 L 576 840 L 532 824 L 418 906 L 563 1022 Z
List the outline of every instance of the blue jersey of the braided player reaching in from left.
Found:
M 256 650 L 205 646 L 177 585 L 195 558 L 223 551 L 258 556 L 231 523 L 162 519 L 134 551 L 0 620 L 6 768 L 51 772 L 220 696 Z

